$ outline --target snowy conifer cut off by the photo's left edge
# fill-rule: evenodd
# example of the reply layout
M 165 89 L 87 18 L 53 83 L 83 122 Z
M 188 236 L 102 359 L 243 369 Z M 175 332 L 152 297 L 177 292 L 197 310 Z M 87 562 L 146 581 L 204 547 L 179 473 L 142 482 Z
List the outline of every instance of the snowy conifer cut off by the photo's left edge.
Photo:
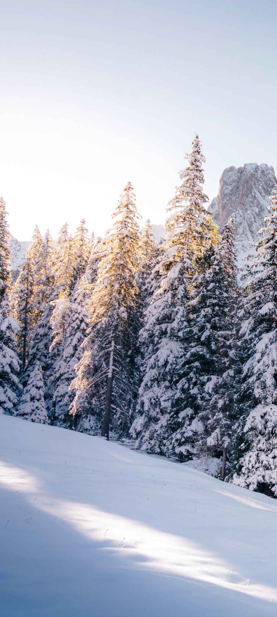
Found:
M 0 413 L 14 412 L 20 383 L 20 365 L 15 352 L 18 323 L 9 316 L 8 292 L 11 278 L 6 204 L 0 198 Z

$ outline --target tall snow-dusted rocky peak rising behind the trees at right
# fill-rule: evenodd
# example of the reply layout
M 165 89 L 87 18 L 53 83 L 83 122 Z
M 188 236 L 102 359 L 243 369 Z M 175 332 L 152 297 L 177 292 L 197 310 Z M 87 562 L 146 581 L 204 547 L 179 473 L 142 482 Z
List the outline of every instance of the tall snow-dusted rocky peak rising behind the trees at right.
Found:
M 235 249 L 241 265 L 243 257 L 251 252 L 257 241 L 257 231 L 268 214 L 268 199 L 277 186 L 273 167 L 246 163 L 243 167 L 227 167 L 219 181 L 219 194 L 209 212 L 222 228 L 228 218 L 235 219 Z

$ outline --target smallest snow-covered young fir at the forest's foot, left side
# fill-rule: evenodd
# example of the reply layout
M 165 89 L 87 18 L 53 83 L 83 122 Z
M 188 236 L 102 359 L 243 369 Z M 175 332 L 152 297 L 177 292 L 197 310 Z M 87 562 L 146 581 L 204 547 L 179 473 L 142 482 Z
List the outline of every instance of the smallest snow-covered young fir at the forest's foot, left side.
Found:
M 48 424 L 46 408 L 44 406 L 44 384 L 41 365 L 36 362 L 23 389 L 17 413 L 25 420 Z

